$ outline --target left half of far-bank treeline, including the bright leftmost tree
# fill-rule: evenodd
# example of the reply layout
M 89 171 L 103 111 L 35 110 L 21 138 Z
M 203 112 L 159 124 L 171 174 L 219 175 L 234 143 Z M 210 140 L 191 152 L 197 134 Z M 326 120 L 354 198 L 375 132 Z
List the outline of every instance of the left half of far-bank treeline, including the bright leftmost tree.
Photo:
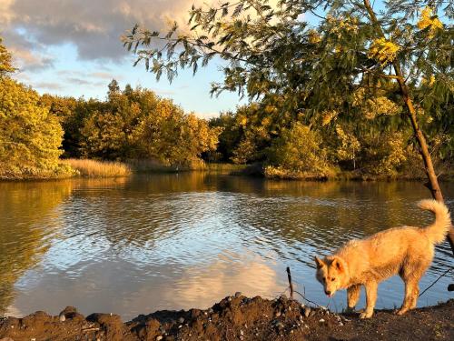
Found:
M 38 95 L 15 81 L 0 39 L 0 178 L 74 176 L 62 158 L 152 160 L 192 168 L 214 152 L 221 128 L 152 91 L 113 80 L 104 101 Z

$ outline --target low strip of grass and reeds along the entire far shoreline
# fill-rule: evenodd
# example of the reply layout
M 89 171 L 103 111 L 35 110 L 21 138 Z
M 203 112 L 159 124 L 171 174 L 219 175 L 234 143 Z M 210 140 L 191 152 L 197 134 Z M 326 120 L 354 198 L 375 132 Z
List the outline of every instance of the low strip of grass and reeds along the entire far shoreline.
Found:
M 443 165 L 439 180 L 453 181 L 452 165 Z M 298 172 L 282 167 L 271 167 L 262 163 L 252 165 L 235 165 L 228 163 L 208 163 L 202 159 L 193 160 L 182 165 L 164 165 L 157 160 L 109 161 L 94 159 L 61 159 L 56 172 L 23 172 L 6 174 L 0 172 L 0 181 L 34 181 L 58 180 L 73 177 L 124 177 L 138 174 L 161 174 L 179 172 L 206 172 L 228 176 L 254 176 L 271 180 L 292 181 L 419 181 L 425 178 L 422 174 L 373 175 L 358 171 L 341 171 L 324 173 Z

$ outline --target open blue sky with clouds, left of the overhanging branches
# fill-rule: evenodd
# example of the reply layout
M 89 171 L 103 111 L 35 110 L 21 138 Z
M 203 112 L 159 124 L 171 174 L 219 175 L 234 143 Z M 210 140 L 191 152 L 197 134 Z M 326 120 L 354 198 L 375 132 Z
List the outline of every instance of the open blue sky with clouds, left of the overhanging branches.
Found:
M 219 0 L 0 0 L 0 36 L 15 57 L 15 78 L 40 94 L 104 99 L 114 78 L 121 87 L 142 85 L 170 97 L 185 111 L 202 117 L 232 110 L 239 96 L 210 95 L 212 82 L 222 80 L 219 64 L 195 76 L 183 71 L 170 85 L 157 82 L 120 41 L 134 24 L 165 32 L 169 22 L 185 25 L 193 3 Z

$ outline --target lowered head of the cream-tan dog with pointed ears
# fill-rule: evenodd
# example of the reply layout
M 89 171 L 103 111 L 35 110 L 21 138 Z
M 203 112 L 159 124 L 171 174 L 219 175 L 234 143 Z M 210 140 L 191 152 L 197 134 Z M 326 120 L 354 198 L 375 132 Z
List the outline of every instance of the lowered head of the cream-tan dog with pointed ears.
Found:
M 325 289 L 325 294 L 329 297 L 334 296 L 334 293 L 341 289 L 342 282 L 346 276 L 345 262 L 336 256 L 329 256 L 323 259 L 315 257 L 317 265 L 317 280 Z

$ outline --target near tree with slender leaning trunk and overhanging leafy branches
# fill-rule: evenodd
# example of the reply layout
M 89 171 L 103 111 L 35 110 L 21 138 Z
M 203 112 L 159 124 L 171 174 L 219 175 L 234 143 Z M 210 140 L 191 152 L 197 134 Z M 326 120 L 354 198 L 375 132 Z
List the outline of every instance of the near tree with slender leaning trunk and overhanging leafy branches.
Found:
M 218 56 L 224 59 L 222 83 L 212 93 L 238 91 L 251 98 L 282 95 L 285 106 L 297 109 L 315 124 L 327 110 L 349 115 L 352 94 L 394 83 L 402 117 L 410 121 L 423 159 L 431 195 L 439 189 L 429 144 L 419 121 L 421 111 L 446 117 L 452 101 L 452 19 L 454 4 L 442 0 L 240 0 L 219 7 L 194 7 L 189 34 L 175 24 L 166 35 L 138 25 L 123 37 L 128 49 L 157 78 L 170 80 L 184 67 L 195 73 Z M 321 10 L 322 9 L 322 10 Z M 301 20 L 312 15 L 313 23 Z M 158 47 L 153 47 L 159 41 Z M 422 84 L 429 80 L 430 87 Z M 415 98 L 419 98 L 415 105 Z M 297 105 L 295 105 L 295 102 Z M 444 118 L 446 119 L 446 118 Z M 320 121 L 320 120 L 319 120 Z M 454 229 L 449 241 L 454 252 Z

